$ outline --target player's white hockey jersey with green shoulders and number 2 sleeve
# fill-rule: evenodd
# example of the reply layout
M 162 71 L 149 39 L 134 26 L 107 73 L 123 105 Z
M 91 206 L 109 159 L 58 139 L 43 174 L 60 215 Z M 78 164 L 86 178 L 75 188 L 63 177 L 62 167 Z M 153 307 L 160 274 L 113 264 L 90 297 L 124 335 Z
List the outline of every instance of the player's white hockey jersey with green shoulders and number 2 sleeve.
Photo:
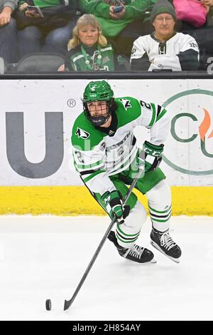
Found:
M 132 97 L 115 101 L 116 122 L 107 133 L 104 128 L 95 128 L 84 113 L 72 128 L 75 168 L 89 190 L 101 195 L 115 190 L 109 176 L 128 169 L 136 157 L 138 147 L 133 135 L 136 126 L 150 128 L 150 142 L 155 145 L 164 143 L 170 130 L 170 119 L 162 106 Z

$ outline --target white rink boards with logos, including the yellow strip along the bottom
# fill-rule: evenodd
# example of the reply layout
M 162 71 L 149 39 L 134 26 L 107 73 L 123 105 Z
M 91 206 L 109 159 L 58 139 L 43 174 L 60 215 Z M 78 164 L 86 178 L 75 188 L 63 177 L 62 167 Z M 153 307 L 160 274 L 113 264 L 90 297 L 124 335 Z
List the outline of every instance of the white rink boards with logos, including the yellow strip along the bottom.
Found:
M 116 97 L 133 96 L 168 109 L 171 130 L 161 168 L 171 185 L 173 214 L 213 216 L 212 80 L 108 81 Z M 72 164 L 70 134 L 88 82 L 1 81 L 1 214 L 104 215 Z M 137 128 L 135 135 L 142 145 L 148 130 Z M 147 209 L 146 197 L 138 198 Z

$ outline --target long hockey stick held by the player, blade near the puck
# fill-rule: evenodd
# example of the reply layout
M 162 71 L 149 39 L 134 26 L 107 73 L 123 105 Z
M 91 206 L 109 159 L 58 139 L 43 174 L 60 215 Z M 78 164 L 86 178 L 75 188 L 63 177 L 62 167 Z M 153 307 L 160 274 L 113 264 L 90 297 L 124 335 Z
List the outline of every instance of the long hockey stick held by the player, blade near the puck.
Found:
M 131 195 L 131 192 L 132 192 L 133 188 L 136 186 L 136 182 L 138 181 L 138 178 L 141 177 L 142 172 L 144 172 L 144 170 L 140 169 L 138 171 L 136 177 L 134 178 L 133 182 L 131 183 L 131 186 L 129 187 L 129 190 L 124 197 L 123 205 L 126 205 L 126 202 L 129 199 L 129 196 Z M 84 284 L 84 280 L 87 278 L 87 275 L 89 274 L 89 271 L 91 270 L 92 265 L 94 264 L 95 260 L 97 259 L 98 254 L 101 251 L 101 249 L 104 245 L 104 242 L 106 241 L 106 239 L 109 235 L 109 232 L 111 232 L 111 229 L 114 226 L 115 222 L 116 222 L 116 217 L 114 217 L 113 220 L 111 221 L 111 223 L 110 223 L 110 225 L 107 229 L 107 232 L 105 232 L 104 237 L 102 238 L 102 241 L 99 243 L 99 246 L 97 247 L 97 250 L 94 253 L 94 256 L 92 257 L 91 261 L 89 262 L 89 265 L 88 265 L 86 271 L 84 272 L 84 274 L 82 276 L 82 279 L 80 280 L 80 283 L 77 285 L 77 289 L 75 290 L 74 294 L 72 295 L 72 298 L 70 300 L 65 300 L 64 311 L 71 306 L 71 304 L 75 300 L 75 297 L 77 296 L 78 292 L 80 292 L 82 284 Z

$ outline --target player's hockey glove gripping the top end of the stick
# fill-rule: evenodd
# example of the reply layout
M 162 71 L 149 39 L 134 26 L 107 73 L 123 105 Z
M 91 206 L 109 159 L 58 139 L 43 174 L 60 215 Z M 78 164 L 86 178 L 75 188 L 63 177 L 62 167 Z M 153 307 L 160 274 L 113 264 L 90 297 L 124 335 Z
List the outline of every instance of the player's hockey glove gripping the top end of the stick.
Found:
M 143 143 L 143 152 L 145 153 L 145 172 L 153 171 L 158 168 L 162 160 L 163 144 L 154 145 L 145 141 Z

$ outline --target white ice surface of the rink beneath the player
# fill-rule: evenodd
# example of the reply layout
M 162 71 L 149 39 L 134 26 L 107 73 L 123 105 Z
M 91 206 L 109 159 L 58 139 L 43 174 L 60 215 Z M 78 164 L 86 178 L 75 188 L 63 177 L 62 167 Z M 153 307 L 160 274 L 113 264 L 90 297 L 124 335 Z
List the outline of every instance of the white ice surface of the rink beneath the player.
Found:
M 138 244 L 156 264 L 119 256 L 107 240 L 70 309 L 63 311 L 109 226 L 107 217 L 0 216 L 0 320 L 213 320 L 213 217 L 173 217 L 180 264 Z M 45 300 L 52 300 L 52 311 Z

